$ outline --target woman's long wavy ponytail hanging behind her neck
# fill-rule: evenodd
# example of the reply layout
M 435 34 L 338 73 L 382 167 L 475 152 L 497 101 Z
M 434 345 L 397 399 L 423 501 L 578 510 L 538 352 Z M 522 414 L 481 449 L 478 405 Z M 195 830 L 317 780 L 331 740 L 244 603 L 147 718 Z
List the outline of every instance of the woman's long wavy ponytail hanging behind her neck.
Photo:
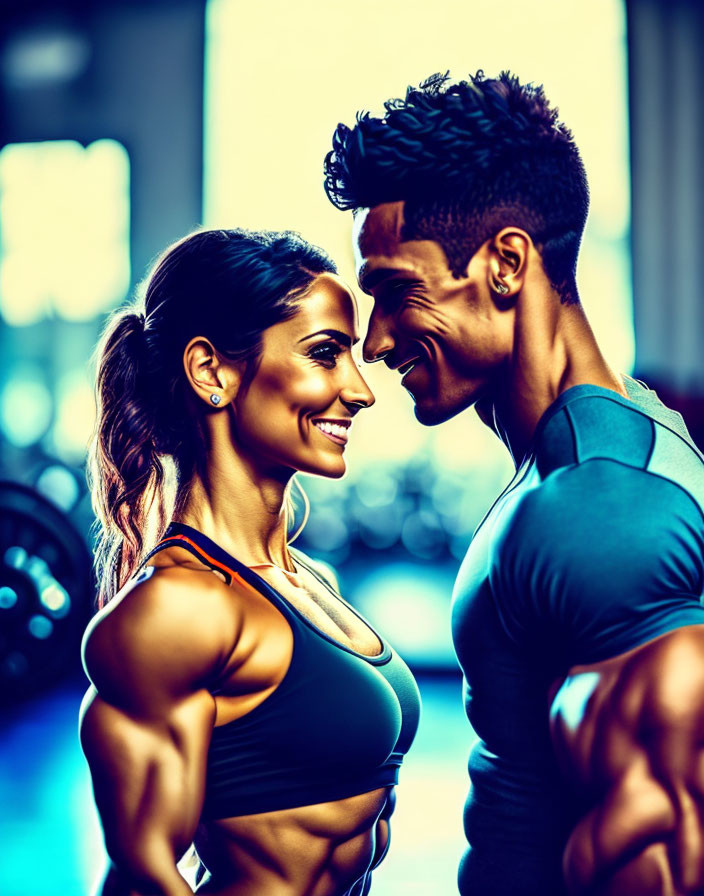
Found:
M 159 527 L 165 525 L 164 470 L 146 361 L 144 315 L 118 312 L 98 349 L 97 421 L 89 454 L 99 526 L 95 563 L 101 606 L 138 565 L 153 514 Z

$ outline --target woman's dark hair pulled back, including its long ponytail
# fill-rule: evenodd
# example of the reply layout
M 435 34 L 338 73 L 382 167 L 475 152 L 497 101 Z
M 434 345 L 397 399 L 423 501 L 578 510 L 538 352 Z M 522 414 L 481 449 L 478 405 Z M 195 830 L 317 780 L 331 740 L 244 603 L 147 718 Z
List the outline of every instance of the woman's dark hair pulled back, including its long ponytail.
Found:
M 324 272 L 336 272 L 330 258 L 289 231 L 199 231 L 167 249 L 143 299 L 110 319 L 89 453 L 101 606 L 161 537 L 205 457 L 207 409 L 188 388 L 187 343 L 208 338 L 228 360 L 247 362 L 251 377 L 263 331 L 292 317 Z

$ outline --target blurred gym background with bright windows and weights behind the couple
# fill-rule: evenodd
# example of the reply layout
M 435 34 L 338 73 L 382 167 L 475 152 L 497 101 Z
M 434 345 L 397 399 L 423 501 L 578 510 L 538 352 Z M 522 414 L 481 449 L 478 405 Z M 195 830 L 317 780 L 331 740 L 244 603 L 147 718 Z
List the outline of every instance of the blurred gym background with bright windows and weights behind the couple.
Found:
M 592 191 L 580 291 L 612 364 L 704 443 L 699 85 L 704 16 L 658 0 L 94 0 L 0 6 L 0 892 L 72 896 L 104 862 L 76 735 L 92 612 L 91 353 L 150 261 L 193 228 L 290 228 L 354 284 L 322 159 L 338 121 L 437 71 L 545 85 Z M 362 317 L 367 299 L 358 293 Z M 419 674 L 376 896 L 455 892 L 472 734 L 454 574 L 511 475 L 468 412 L 420 427 L 379 365 L 341 482 L 305 478 L 298 545 Z

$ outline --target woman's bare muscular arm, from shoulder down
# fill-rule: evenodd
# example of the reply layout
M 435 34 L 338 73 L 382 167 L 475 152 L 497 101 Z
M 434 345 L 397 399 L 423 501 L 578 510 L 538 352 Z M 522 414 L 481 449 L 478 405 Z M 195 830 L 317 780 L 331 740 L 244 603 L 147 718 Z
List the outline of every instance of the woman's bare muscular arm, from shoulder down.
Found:
M 112 859 L 104 896 L 191 892 L 176 862 L 202 807 L 215 718 L 206 683 L 238 636 L 232 595 L 223 591 L 209 573 L 160 570 L 87 632 L 93 687 L 81 744 Z

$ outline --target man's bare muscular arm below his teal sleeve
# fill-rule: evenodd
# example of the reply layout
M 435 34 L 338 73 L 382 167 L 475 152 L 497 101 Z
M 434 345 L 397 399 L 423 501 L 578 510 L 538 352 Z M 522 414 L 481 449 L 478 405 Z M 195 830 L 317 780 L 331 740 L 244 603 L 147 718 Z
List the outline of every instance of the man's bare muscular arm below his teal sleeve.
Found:
M 551 732 L 588 807 L 564 852 L 570 894 L 701 893 L 704 626 L 570 670 Z

